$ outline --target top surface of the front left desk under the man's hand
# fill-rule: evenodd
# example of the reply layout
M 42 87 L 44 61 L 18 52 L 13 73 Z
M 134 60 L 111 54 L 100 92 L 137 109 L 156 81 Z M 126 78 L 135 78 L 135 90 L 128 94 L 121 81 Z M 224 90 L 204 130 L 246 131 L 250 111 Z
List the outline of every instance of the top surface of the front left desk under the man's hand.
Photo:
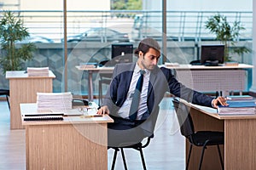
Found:
M 37 104 L 26 103 L 20 104 L 20 114 L 22 125 L 54 125 L 54 124 L 74 124 L 74 123 L 105 123 L 113 122 L 113 119 L 108 115 L 99 117 L 84 117 L 84 116 L 64 116 L 63 121 L 23 121 L 22 115 L 27 113 L 38 113 Z

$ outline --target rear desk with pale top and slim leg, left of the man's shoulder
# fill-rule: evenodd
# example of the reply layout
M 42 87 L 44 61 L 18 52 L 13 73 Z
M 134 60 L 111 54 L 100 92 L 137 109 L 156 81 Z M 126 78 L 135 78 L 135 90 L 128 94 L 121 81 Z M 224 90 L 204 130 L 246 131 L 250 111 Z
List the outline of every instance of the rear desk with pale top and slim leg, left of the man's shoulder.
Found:
M 113 67 L 96 67 L 96 68 L 86 68 L 81 66 L 76 66 L 79 71 L 88 71 L 88 99 L 89 101 L 93 101 L 93 82 L 92 82 L 92 74 L 93 73 L 112 73 Z

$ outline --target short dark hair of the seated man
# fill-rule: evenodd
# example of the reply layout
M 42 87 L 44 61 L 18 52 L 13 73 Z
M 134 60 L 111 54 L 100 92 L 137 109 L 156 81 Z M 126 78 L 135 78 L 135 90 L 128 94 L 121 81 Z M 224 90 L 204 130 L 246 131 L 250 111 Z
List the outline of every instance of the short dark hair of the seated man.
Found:
M 138 56 L 140 51 L 142 51 L 143 54 L 146 54 L 149 48 L 154 48 L 155 50 L 160 52 L 160 45 L 158 44 L 158 42 L 151 37 L 147 37 L 139 43 L 138 48 L 134 51 L 134 54 Z

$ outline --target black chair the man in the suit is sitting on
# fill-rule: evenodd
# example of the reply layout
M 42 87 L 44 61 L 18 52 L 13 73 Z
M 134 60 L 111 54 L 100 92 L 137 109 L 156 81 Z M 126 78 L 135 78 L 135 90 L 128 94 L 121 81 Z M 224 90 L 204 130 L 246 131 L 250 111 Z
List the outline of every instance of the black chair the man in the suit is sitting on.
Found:
M 142 162 L 143 162 L 143 169 L 147 169 L 145 159 L 144 159 L 144 156 L 143 156 L 143 148 L 146 148 L 148 146 L 148 144 L 150 143 L 150 139 L 153 139 L 153 138 L 154 138 L 154 134 L 149 136 L 147 138 L 147 142 L 145 142 L 145 143 L 143 143 L 143 141 L 142 141 L 142 142 L 137 143 L 137 144 L 132 144 L 132 145 L 123 146 L 123 147 L 108 147 L 108 149 L 113 149 L 114 150 L 111 170 L 114 169 L 117 153 L 118 153 L 119 150 L 121 150 L 121 155 L 122 155 L 122 159 L 123 159 L 123 162 L 124 162 L 124 167 L 125 167 L 125 170 L 127 170 L 127 165 L 126 165 L 126 161 L 125 161 L 125 151 L 124 151 L 125 148 L 139 150 L 140 154 L 141 154 Z

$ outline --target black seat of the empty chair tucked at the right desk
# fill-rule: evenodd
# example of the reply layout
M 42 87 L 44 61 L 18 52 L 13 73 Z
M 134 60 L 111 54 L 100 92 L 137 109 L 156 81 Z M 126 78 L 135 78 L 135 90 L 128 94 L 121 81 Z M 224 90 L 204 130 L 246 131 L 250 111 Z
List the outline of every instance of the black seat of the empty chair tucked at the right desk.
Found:
M 207 145 L 224 144 L 224 132 L 199 131 L 192 134 L 191 138 L 197 146 L 204 145 L 207 140 Z

